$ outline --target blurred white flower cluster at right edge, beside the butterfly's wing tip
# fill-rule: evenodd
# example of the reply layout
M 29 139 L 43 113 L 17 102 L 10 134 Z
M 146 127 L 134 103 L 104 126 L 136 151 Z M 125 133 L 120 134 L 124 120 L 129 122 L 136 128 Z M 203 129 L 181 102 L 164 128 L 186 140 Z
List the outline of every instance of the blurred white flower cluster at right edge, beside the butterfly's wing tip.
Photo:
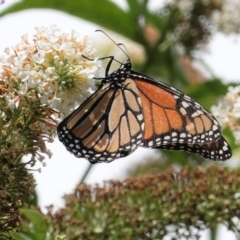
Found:
M 222 126 L 230 127 L 236 143 L 240 144 L 240 86 L 229 87 L 227 95 L 212 107 L 212 112 Z

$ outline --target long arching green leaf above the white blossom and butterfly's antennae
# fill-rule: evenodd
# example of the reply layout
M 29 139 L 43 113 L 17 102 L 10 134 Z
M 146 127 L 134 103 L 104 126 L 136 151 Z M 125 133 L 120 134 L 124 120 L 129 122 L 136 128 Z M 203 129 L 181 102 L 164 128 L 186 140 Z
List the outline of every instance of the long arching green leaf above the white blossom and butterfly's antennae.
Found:
M 0 16 L 32 8 L 50 8 L 63 11 L 129 38 L 133 38 L 135 33 L 135 25 L 129 17 L 129 14 L 109 0 L 24 0 L 7 8 L 0 13 Z

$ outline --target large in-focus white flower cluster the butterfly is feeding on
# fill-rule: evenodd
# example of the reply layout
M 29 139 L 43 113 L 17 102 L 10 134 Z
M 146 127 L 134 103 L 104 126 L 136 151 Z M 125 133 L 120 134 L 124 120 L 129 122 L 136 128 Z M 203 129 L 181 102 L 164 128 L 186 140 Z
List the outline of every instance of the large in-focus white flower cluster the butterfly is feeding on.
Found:
M 68 35 L 56 26 L 36 31 L 32 41 L 24 35 L 12 53 L 8 48 L 0 58 L 0 79 L 17 82 L 17 92 L 6 96 L 9 105 L 16 104 L 17 95 L 37 94 L 42 105 L 68 115 L 95 90 L 93 77 L 102 76 L 101 61 L 89 39 L 75 31 Z

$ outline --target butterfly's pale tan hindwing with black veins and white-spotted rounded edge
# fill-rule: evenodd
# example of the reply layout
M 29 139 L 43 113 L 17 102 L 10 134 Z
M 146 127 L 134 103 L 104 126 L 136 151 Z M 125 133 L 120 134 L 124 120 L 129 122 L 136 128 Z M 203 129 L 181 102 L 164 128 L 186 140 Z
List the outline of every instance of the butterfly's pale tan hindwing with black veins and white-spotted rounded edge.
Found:
M 134 151 L 143 129 L 138 90 L 126 79 L 122 87 L 103 84 L 59 124 L 58 135 L 76 157 L 110 162 Z

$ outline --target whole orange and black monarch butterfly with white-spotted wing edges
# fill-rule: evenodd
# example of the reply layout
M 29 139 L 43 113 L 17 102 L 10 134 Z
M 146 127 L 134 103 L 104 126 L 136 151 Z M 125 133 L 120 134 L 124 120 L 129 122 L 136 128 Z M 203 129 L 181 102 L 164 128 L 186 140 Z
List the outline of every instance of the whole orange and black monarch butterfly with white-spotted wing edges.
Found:
M 130 59 L 108 74 L 98 90 L 58 126 L 76 157 L 91 163 L 125 157 L 138 146 L 194 152 L 226 160 L 231 149 L 217 120 L 179 90 L 132 69 Z

